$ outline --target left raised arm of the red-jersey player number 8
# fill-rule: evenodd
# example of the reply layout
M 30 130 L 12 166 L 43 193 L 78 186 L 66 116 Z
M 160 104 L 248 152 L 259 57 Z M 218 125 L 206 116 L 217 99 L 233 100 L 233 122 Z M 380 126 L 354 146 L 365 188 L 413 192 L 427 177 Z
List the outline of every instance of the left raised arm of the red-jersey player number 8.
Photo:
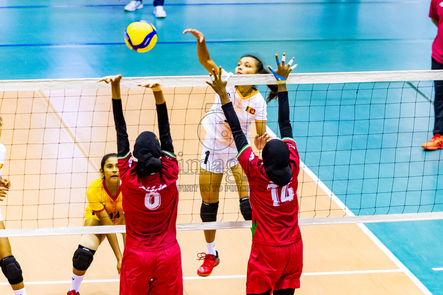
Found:
M 112 89 L 112 107 L 114 113 L 115 130 L 117 131 L 117 151 L 118 157 L 124 157 L 129 153 L 129 140 L 126 131 L 126 122 L 124 121 L 123 108 L 121 106 L 120 96 L 121 75 L 106 76 L 99 82 L 111 83 Z

